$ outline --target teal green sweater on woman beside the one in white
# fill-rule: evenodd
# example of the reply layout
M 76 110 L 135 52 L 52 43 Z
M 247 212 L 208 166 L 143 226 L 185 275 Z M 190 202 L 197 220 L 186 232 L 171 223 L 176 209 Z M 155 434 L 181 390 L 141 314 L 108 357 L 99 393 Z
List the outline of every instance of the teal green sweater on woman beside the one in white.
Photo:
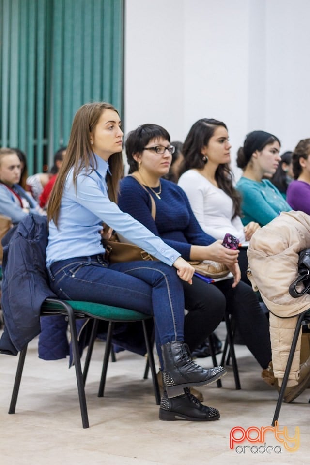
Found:
M 258 182 L 242 176 L 237 182 L 236 188 L 242 197 L 241 219 L 244 225 L 250 221 L 255 221 L 264 226 L 277 217 L 280 212 L 292 210 L 277 187 L 268 179 Z

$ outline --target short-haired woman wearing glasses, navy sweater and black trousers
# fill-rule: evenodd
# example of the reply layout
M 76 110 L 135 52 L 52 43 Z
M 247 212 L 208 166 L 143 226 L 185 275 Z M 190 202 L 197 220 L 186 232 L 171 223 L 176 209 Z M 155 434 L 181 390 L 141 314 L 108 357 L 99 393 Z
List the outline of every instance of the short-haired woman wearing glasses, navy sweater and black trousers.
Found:
M 233 279 L 215 284 L 208 284 L 195 275 L 192 286 L 183 283 L 188 310 L 184 334 L 190 350 L 214 331 L 226 308 L 234 315 L 249 350 L 265 369 L 271 360 L 268 321 L 251 287 L 239 283 L 239 251 L 226 249 L 222 240 L 205 233 L 185 192 L 162 178 L 169 171 L 173 150 L 169 133 L 156 124 L 143 124 L 129 133 L 126 155 L 134 176 L 122 179 L 119 206 L 176 249 L 185 260 L 214 260 L 225 263 L 233 273 Z M 156 204 L 155 220 L 150 196 Z

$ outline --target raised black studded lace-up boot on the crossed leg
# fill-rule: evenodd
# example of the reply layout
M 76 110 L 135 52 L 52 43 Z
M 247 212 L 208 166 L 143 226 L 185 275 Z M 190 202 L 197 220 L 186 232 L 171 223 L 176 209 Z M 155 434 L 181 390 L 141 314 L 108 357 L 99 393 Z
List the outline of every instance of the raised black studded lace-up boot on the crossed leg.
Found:
M 194 363 L 183 342 L 167 342 L 161 348 L 164 360 L 163 383 L 168 397 L 180 395 L 183 387 L 208 385 L 226 374 L 223 367 L 207 370 Z

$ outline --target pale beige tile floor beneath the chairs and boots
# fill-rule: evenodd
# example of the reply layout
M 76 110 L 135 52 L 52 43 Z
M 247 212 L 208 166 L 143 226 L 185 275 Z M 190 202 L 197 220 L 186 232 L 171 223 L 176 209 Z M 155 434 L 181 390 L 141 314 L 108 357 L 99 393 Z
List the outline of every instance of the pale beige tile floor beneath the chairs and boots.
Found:
M 109 364 L 106 397 L 97 398 L 103 342 L 96 342 L 86 385 L 90 428 L 82 429 L 75 372 L 66 360 L 43 361 L 37 357 L 37 341 L 29 345 L 16 414 L 8 406 L 17 358 L 0 355 L 0 464 L 1 465 L 196 465 L 196 464 L 309 464 L 310 390 L 294 403 L 283 404 L 279 426 L 289 435 L 300 428 L 300 447 L 290 453 L 266 433 L 270 453 L 245 453 L 229 447 L 235 426 L 271 424 L 277 393 L 260 379 L 260 367 L 244 346 L 236 346 L 242 390 L 234 389 L 233 373 L 223 387 L 203 387 L 205 403 L 217 407 L 214 422 L 159 421 L 151 380 L 142 380 L 144 359 L 130 352 Z M 218 356 L 219 358 L 219 356 Z M 205 367 L 210 359 L 200 359 Z M 240 452 L 240 448 L 238 449 Z

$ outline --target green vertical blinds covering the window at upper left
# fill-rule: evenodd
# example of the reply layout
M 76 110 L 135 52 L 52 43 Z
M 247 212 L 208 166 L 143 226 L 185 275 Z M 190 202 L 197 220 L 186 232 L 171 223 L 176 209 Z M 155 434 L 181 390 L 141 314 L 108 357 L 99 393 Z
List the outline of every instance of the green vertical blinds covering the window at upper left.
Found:
M 123 111 L 124 0 L 0 0 L 0 146 L 51 166 L 74 114 Z

